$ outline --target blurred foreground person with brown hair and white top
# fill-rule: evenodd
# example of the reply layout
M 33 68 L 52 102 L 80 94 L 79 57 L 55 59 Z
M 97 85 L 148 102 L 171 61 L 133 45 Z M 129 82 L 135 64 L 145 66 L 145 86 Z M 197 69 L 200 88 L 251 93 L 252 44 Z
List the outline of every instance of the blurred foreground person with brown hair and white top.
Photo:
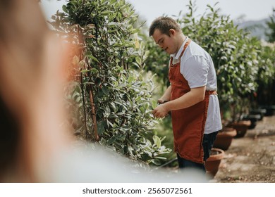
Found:
M 204 182 L 201 174 L 148 172 L 95 144 L 75 146 L 62 126 L 69 48 L 37 1 L 0 0 L 0 182 Z

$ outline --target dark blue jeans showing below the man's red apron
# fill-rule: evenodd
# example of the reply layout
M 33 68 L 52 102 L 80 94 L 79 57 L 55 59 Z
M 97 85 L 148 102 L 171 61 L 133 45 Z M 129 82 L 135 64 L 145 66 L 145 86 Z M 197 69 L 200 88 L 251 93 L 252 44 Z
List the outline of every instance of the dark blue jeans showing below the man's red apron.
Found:
M 204 157 L 203 157 L 204 162 L 210 156 L 211 148 L 213 148 L 213 144 L 214 144 L 217 134 L 218 134 L 218 132 L 213 132 L 211 134 L 203 135 L 202 147 L 203 147 L 203 152 L 204 152 Z M 181 158 L 180 155 L 178 155 L 178 154 L 177 154 L 177 157 L 178 157 L 178 167 L 180 167 L 180 168 L 193 167 L 198 170 L 202 170 L 203 172 L 206 172 L 203 163 L 195 163 L 190 160 L 185 160 L 184 158 Z

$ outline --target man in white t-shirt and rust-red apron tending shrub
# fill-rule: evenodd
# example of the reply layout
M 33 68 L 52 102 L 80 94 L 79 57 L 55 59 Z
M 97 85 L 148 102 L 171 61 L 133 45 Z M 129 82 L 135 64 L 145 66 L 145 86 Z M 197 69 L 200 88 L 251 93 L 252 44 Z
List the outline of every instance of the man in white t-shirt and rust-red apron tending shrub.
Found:
M 205 172 L 204 162 L 222 128 L 212 58 L 186 37 L 172 18 L 154 20 L 149 36 L 171 56 L 171 85 L 159 98 L 161 105 L 153 110 L 153 115 L 165 117 L 171 111 L 179 167 L 195 167 Z

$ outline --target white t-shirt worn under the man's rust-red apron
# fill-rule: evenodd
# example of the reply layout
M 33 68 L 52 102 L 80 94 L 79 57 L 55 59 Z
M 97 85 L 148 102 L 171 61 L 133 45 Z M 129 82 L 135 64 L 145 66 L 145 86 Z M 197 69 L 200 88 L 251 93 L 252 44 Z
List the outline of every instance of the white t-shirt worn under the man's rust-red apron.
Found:
M 173 64 L 179 61 L 183 46 L 187 41 L 188 37 L 186 37 L 178 53 L 171 55 L 173 57 Z M 188 81 L 190 88 L 206 86 L 207 90 L 217 89 L 216 71 L 212 58 L 207 51 L 193 41 L 190 42 L 183 56 L 181 56 L 180 70 L 185 80 Z M 219 131 L 221 128 L 219 98 L 217 95 L 210 95 L 204 134 Z

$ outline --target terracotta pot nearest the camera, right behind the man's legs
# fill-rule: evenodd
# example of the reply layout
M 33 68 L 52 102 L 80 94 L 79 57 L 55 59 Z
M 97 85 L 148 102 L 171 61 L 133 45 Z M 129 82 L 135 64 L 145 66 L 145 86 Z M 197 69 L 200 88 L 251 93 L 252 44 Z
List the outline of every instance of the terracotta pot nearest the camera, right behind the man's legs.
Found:
M 214 178 L 219 170 L 221 160 L 224 158 L 224 151 L 220 148 L 212 148 L 210 157 L 205 162 L 204 166 L 209 177 Z

